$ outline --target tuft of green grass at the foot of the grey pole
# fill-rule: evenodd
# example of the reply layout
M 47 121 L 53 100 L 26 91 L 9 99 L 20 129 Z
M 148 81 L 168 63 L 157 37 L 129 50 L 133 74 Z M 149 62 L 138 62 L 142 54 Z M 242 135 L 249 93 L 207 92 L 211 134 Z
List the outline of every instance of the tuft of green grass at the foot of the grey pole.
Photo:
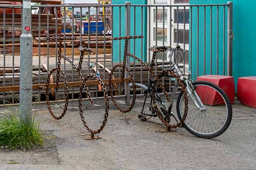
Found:
M 42 144 L 44 140 L 40 122 L 35 122 L 35 115 L 29 126 L 21 121 L 19 111 L 8 111 L 0 119 L 0 146 L 26 150 Z

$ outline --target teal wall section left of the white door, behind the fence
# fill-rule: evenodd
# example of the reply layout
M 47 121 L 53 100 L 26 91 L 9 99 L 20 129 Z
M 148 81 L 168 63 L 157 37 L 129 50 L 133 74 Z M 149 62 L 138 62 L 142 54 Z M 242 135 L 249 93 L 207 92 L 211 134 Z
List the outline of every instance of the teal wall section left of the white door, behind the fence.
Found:
M 131 4 L 147 4 L 147 0 L 113 0 L 113 4 L 125 4 L 125 1 L 130 1 Z M 131 35 L 144 35 L 143 49 L 141 49 L 141 39 L 135 42 L 136 48 L 134 53 L 134 40 L 131 40 L 131 54 L 135 54 L 141 58 L 143 51 L 143 61 L 146 61 L 147 54 L 147 10 L 143 8 L 143 32 L 141 32 L 141 7 L 136 7 L 136 34 L 134 34 L 134 7 L 131 7 Z M 119 7 L 113 7 L 113 37 L 119 37 Z M 125 36 L 125 7 L 121 7 L 121 36 Z M 123 60 L 124 42 L 121 41 L 121 61 Z M 113 41 L 113 62 L 119 62 L 119 40 Z M 131 58 L 133 61 L 133 58 Z

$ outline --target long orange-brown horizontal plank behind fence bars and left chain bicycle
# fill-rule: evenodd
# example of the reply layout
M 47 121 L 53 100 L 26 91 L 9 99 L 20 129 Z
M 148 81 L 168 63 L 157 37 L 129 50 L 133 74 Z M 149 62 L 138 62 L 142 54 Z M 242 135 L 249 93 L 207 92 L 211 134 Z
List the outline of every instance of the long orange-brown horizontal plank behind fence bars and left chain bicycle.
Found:
M 104 82 L 109 82 L 108 79 L 103 80 Z M 113 83 L 120 83 L 122 79 L 114 79 L 112 82 Z M 129 78 L 125 78 L 124 82 L 130 82 Z M 90 80 L 86 82 L 86 85 L 98 85 L 99 81 L 98 80 Z M 64 88 L 65 83 L 61 82 L 58 84 L 59 88 Z M 46 86 L 45 84 L 40 84 L 40 85 L 33 85 L 32 89 L 37 90 L 39 86 Z M 68 82 L 68 87 L 79 87 L 81 86 L 81 82 Z M 55 83 L 49 84 L 49 88 L 55 88 Z M 6 92 L 6 91 L 20 91 L 20 86 L 5 86 L 5 87 L 0 87 L 0 92 Z

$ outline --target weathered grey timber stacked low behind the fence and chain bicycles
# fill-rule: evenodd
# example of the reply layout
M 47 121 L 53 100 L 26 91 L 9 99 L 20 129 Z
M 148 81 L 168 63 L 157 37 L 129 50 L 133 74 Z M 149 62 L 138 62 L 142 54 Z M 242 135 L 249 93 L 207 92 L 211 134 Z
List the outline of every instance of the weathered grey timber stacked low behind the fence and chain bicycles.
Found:
M 104 65 L 104 62 L 100 62 L 100 63 L 102 65 Z M 113 65 L 115 65 L 115 64 L 117 64 L 117 63 L 113 63 Z M 52 68 L 55 68 L 55 67 L 56 67 L 55 65 L 49 65 L 49 70 L 51 70 Z M 111 62 L 106 62 L 105 67 L 111 70 L 111 68 L 112 68 Z M 33 85 L 46 84 L 46 82 L 47 82 L 47 76 L 48 76 L 47 73 L 48 72 L 47 72 L 47 70 L 45 70 L 45 68 L 43 66 L 40 66 L 40 68 L 41 69 L 39 69 L 38 66 L 33 68 Z M 157 72 L 162 71 L 162 68 L 163 68 L 163 63 L 157 62 Z M 169 62 L 164 63 L 164 68 L 169 68 Z M 67 82 L 79 82 L 80 81 L 78 74 L 76 74 L 76 71 L 72 69 L 71 65 L 66 64 L 65 68 L 64 68 L 64 65 L 61 65 L 61 69 L 66 74 Z M 18 68 L 15 68 L 15 70 L 18 70 Z M 88 71 L 90 73 L 95 74 L 95 70 L 93 69 L 93 67 L 90 67 L 88 65 L 88 63 L 83 64 L 82 69 L 81 69 L 82 75 L 86 76 L 88 74 Z M 100 67 L 100 65 L 98 65 L 98 71 L 99 71 L 99 75 L 100 75 L 101 79 L 109 79 L 108 71 L 106 71 L 104 68 Z M 134 63 L 131 63 L 131 74 L 134 76 L 135 82 L 143 83 L 144 85 L 147 85 L 148 70 L 144 67 L 141 67 L 139 62 L 136 62 L 135 65 L 134 65 Z M 116 79 L 121 78 L 120 77 L 121 71 L 119 70 L 119 68 L 116 68 L 113 75 Z M 53 76 L 53 82 L 55 82 L 55 76 L 56 76 L 55 72 L 52 74 L 52 76 Z M 3 82 L 4 79 L 5 79 L 5 82 Z M 0 76 L 0 87 L 3 87 L 3 84 L 5 84 L 5 86 L 15 86 L 15 85 L 17 86 L 20 83 L 19 82 L 20 75 L 18 72 L 14 73 L 14 74 L 12 74 L 12 71 L 10 71 L 9 73 L 6 72 L 4 79 L 3 79 L 3 74 L 2 74 Z M 95 80 L 95 79 L 89 79 L 89 80 Z M 64 82 L 62 77 L 60 77 L 59 82 Z M 163 82 L 164 82 L 164 86 L 165 86 L 166 90 L 169 92 L 170 79 L 168 77 L 165 77 L 163 79 Z M 117 84 L 117 87 L 120 89 L 120 92 L 122 94 L 124 85 L 122 86 L 121 84 Z M 73 88 L 70 87 L 69 89 L 70 89 L 70 93 L 72 93 L 72 89 L 73 89 L 74 94 L 79 93 L 79 87 L 73 87 Z M 119 91 L 119 89 L 114 89 L 114 91 Z M 107 90 L 108 90 L 108 86 L 107 86 Z M 60 94 L 63 96 L 63 91 L 64 91 L 63 88 L 59 89 L 58 95 Z M 95 96 L 96 85 L 90 86 L 90 92 L 91 92 L 92 96 Z M 38 90 L 33 91 L 33 93 L 38 94 Z M 1 94 L 3 94 L 3 92 L 1 92 Z M 41 91 L 41 94 L 44 94 L 44 91 Z

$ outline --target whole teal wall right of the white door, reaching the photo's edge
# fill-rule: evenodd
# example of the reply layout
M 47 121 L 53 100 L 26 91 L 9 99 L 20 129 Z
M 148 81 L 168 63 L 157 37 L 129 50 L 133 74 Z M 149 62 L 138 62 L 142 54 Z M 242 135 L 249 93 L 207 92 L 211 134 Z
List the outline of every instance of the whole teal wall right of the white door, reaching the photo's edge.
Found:
M 217 4 L 217 3 L 227 3 L 228 0 L 190 0 L 190 4 Z M 237 83 L 238 77 L 245 76 L 256 76 L 256 52 L 255 52 L 255 40 L 256 40 L 256 0 L 233 0 L 233 76 L 235 77 L 235 82 Z M 209 7 L 208 7 L 209 8 Z M 227 9 L 227 8 L 226 8 Z M 222 74 L 222 59 L 223 59 L 223 7 L 219 8 L 219 74 Z M 216 7 L 212 9 L 213 11 L 213 22 L 212 25 L 212 56 L 215 58 L 212 60 L 214 65 L 213 68 L 216 68 Z M 197 18 L 196 18 L 197 9 L 193 8 L 192 16 L 192 72 L 196 72 L 196 42 L 197 37 Z M 203 53 L 203 29 L 204 29 L 204 11 L 203 8 L 200 8 L 200 17 L 199 17 L 199 75 L 203 74 L 203 64 L 202 57 Z M 227 16 L 227 10 L 226 10 Z M 226 24 L 227 27 L 227 24 Z M 207 9 L 207 47 L 209 46 L 209 9 Z M 227 28 L 226 28 L 227 29 Z M 227 36 L 227 33 L 226 33 Z M 227 37 L 226 37 L 227 40 Z M 226 43 L 225 43 L 226 44 Z M 227 48 L 226 48 L 227 49 Z M 209 74 L 209 48 L 207 48 L 207 73 Z M 226 62 L 227 63 L 227 62 Z M 212 74 L 216 73 L 216 69 Z M 193 78 L 195 78 L 193 76 Z

